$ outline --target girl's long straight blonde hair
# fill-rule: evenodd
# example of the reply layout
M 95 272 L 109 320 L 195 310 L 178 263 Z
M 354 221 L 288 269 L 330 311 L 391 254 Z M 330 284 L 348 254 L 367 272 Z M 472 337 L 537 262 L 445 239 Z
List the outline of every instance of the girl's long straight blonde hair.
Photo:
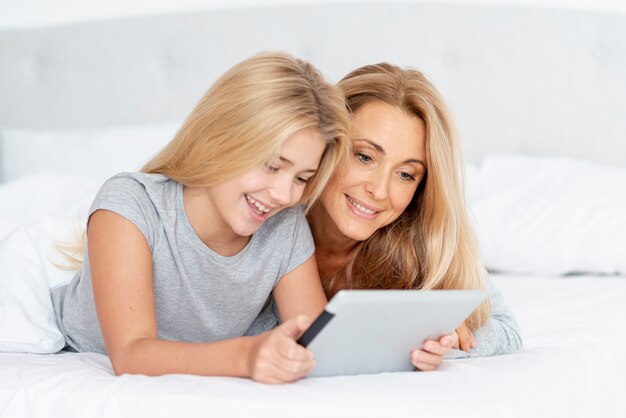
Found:
M 300 203 L 311 204 L 350 152 L 345 98 L 311 64 L 286 53 L 265 52 L 236 64 L 205 93 L 174 139 L 142 168 L 185 186 L 210 187 L 270 162 L 290 136 L 314 129 L 326 148 Z M 80 268 L 85 231 L 59 243 Z

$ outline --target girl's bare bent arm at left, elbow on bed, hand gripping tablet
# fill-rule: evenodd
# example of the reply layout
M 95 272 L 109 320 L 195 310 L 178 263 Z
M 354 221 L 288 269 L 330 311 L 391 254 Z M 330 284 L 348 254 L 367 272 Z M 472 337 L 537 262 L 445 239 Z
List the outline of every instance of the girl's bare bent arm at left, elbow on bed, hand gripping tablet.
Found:
M 100 328 L 115 373 L 189 373 L 285 383 L 306 375 L 312 354 L 295 343 L 308 326 L 295 317 L 255 336 L 212 343 L 160 340 L 152 254 L 126 218 L 97 210 L 88 225 L 89 262 Z

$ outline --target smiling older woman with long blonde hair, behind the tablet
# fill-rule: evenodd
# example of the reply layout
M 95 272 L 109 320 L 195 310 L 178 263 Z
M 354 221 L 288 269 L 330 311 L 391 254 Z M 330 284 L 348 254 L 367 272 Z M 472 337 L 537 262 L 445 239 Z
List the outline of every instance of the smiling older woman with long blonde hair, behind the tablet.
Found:
M 466 325 L 411 353 L 413 364 L 433 370 L 446 356 L 520 348 L 515 319 L 486 283 L 465 207 L 460 145 L 436 88 L 418 71 L 386 63 L 351 72 L 339 87 L 352 112 L 352 155 L 308 214 L 326 296 L 354 288 L 489 287 L 490 300 Z M 254 330 L 274 317 L 266 309 Z

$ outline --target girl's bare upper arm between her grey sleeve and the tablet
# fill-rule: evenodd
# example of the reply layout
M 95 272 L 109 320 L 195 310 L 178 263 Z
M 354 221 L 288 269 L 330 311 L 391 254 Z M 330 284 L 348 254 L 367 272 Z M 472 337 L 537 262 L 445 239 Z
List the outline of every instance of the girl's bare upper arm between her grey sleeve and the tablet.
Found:
M 272 293 L 281 322 L 298 314 L 306 315 L 311 321 L 317 318 L 328 301 L 317 271 L 315 254 L 285 274 Z

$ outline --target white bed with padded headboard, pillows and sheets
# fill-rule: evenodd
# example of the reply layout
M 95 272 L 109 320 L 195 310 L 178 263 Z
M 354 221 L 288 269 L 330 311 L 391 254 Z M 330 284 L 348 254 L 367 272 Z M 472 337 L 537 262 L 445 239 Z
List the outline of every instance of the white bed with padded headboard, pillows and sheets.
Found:
M 0 416 L 626 417 L 623 9 L 253 3 L 0 27 Z M 481 253 L 523 349 L 287 386 L 115 377 L 105 356 L 53 354 L 47 291 L 71 273 L 51 263 L 52 242 L 106 177 L 172 136 L 217 75 L 268 49 L 333 81 L 386 60 L 440 87 Z

